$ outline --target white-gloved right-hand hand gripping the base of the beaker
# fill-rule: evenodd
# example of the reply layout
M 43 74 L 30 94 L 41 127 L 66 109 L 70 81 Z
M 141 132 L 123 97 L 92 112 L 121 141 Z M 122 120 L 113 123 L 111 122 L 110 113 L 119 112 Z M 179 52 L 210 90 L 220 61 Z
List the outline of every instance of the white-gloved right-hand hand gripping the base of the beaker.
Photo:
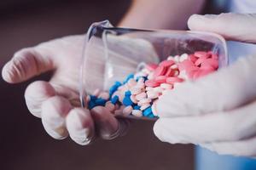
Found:
M 256 14 L 192 15 L 189 28 L 256 43 Z M 183 82 L 153 105 L 155 135 L 171 144 L 200 144 L 219 154 L 256 156 L 256 56 Z

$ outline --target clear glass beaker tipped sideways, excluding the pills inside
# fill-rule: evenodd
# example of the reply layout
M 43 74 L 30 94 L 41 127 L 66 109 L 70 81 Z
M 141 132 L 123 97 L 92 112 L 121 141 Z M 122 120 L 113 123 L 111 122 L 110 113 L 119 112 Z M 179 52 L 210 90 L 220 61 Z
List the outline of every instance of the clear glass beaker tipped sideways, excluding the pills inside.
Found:
M 218 68 L 228 64 L 223 37 L 201 31 L 137 30 L 113 27 L 108 20 L 90 26 L 84 42 L 80 70 L 80 100 L 96 88 L 108 91 L 114 82 L 136 72 L 143 63 L 159 63 L 168 56 L 212 51 Z

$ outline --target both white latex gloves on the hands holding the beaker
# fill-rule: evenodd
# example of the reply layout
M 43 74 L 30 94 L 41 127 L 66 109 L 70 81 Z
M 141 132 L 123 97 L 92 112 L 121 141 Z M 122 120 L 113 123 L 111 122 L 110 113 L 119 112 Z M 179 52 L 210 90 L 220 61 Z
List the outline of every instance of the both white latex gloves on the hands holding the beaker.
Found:
M 195 14 L 188 26 L 227 40 L 256 42 L 256 14 Z M 53 138 L 69 134 L 76 143 L 89 144 L 95 136 L 118 137 L 127 123 L 102 107 L 92 111 L 79 107 L 83 38 L 63 37 L 21 49 L 3 67 L 3 79 L 18 83 L 54 71 L 49 82 L 32 82 L 26 88 L 26 105 Z M 155 135 L 171 144 L 200 144 L 219 154 L 256 156 L 255 73 L 256 56 L 247 56 L 196 82 L 183 82 L 154 105 L 159 116 Z

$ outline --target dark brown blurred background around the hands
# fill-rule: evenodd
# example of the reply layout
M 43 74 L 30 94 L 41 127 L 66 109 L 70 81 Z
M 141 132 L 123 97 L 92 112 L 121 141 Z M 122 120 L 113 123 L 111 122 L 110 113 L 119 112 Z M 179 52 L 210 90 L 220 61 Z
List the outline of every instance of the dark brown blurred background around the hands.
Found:
M 117 24 L 131 1 L 0 1 L 0 65 L 16 50 L 52 38 L 84 33 L 94 21 Z M 47 79 L 47 75 L 37 79 Z M 29 82 L 0 82 L 0 169 L 175 169 L 191 170 L 191 145 L 165 144 L 154 137 L 153 122 L 134 122 L 129 133 L 113 141 L 80 146 L 71 139 L 51 139 L 40 119 L 26 109 Z

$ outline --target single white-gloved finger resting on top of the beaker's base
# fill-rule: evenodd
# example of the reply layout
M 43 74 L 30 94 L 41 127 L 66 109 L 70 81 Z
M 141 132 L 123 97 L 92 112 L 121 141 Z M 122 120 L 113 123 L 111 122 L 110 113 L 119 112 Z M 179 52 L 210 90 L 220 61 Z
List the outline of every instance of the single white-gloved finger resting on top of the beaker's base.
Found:
M 256 14 L 193 14 L 188 26 L 192 31 L 211 31 L 228 40 L 256 43 Z

